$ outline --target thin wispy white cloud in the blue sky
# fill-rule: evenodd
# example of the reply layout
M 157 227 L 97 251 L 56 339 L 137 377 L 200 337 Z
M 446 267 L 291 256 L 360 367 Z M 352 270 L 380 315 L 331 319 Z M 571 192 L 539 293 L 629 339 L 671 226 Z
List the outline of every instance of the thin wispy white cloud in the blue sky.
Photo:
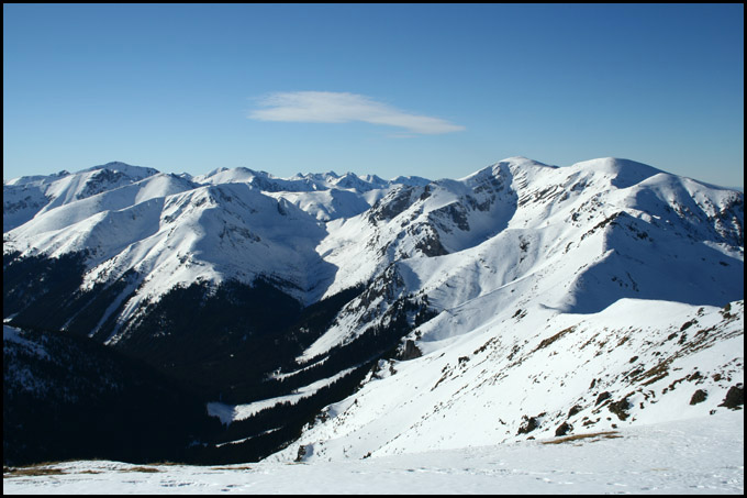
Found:
M 398 126 L 410 133 L 439 134 L 465 129 L 448 121 L 411 114 L 356 93 L 333 91 L 277 92 L 259 99 L 249 119 L 259 121 L 294 121 L 303 123 L 347 123 L 363 121 Z

